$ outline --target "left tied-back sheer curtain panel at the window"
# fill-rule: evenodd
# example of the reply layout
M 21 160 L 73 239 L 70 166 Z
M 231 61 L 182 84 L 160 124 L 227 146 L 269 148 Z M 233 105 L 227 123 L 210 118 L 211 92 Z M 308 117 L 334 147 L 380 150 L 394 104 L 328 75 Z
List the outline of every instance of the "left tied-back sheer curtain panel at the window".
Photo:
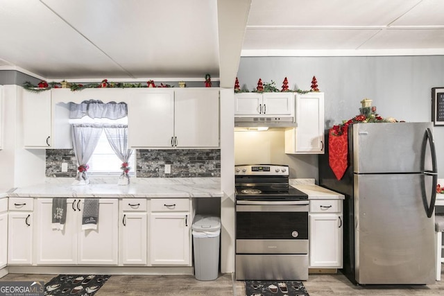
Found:
M 78 172 L 73 185 L 89 184 L 87 165 L 94 149 L 99 142 L 102 133 L 102 125 L 96 124 L 73 124 L 71 125 L 72 146 L 78 163 Z

